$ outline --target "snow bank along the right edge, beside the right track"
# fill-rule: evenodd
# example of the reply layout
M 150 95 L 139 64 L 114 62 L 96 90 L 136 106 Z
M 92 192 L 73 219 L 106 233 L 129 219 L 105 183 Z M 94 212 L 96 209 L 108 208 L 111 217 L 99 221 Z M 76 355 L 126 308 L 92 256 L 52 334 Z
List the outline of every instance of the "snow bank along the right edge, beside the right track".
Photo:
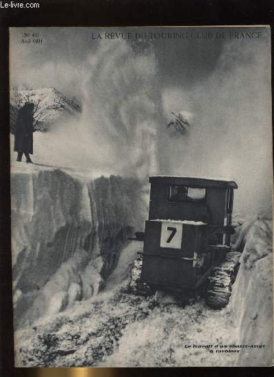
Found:
M 236 344 L 262 345 L 241 348 L 237 366 L 271 365 L 273 360 L 273 252 L 272 221 L 247 225 L 247 242 L 229 308 L 236 326 Z

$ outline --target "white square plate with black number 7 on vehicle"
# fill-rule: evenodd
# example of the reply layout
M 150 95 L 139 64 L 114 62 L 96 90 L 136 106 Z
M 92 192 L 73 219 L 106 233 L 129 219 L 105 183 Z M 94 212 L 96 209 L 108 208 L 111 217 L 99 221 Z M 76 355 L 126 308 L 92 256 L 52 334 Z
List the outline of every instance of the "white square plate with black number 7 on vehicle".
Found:
M 160 247 L 181 249 L 182 247 L 183 224 L 162 222 Z

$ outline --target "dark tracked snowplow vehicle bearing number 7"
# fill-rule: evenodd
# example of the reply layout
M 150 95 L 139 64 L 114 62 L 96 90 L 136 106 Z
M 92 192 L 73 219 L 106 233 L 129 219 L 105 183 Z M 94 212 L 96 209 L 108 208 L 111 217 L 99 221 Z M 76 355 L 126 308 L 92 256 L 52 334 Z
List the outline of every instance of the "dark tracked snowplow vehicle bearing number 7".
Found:
M 209 306 L 223 308 L 240 265 L 241 254 L 230 246 L 236 183 L 167 176 L 149 182 L 149 219 L 134 239 L 144 246 L 130 288 L 141 295 L 204 295 Z

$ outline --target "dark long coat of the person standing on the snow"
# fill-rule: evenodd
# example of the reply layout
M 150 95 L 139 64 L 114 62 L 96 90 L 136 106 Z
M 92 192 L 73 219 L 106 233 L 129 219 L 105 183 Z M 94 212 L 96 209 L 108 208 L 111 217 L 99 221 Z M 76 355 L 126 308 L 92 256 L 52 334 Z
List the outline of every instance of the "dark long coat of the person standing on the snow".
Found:
M 25 104 L 23 108 L 18 111 L 14 132 L 14 151 L 28 152 L 29 154 L 34 153 L 33 123 L 32 108 Z

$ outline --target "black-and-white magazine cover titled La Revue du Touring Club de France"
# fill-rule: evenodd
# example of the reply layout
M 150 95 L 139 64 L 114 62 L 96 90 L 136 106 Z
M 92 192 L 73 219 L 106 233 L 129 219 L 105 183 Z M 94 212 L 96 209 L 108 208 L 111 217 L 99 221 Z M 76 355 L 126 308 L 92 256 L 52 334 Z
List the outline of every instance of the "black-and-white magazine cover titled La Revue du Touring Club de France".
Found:
M 273 363 L 271 32 L 10 28 L 16 367 Z

